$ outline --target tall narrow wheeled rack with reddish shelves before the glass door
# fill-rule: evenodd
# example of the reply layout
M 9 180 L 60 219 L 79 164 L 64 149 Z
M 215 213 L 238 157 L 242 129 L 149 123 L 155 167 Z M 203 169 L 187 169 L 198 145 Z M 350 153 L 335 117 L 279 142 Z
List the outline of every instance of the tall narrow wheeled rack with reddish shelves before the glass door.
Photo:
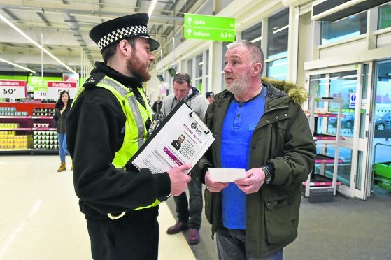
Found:
M 338 104 L 338 112 L 335 113 L 315 113 L 315 103 L 318 102 L 334 102 Z M 327 156 L 325 154 L 316 154 L 315 164 L 323 164 L 322 168 L 325 168 L 325 164 L 333 164 L 332 178 L 327 178 L 325 174 L 315 174 L 315 169 L 306 182 L 303 182 L 305 186 L 305 196 L 311 196 L 311 190 L 325 190 L 330 191 L 332 189 L 332 195 L 336 194 L 336 186 L 341 185 L 341 182 L 337 182 L 338 164 L 343 161 L 339 159 L 339 144 L 341 140 L 344 140 L 341 136 L 341 114 L 342 106 L 341 99 L 333 97 L 313 97 L 311 99 L 311 112 L 309 115 L 309 124 L 313 133 L 313 139 L 315 140 L 316 147 L 326 150 L 327 148 L 334 148 L 334 157 Z M 318 120 L 336 117 L 336 134 L 318 134 Z M 326 119 L 326 120 L 327 120 Z M 322 192 L 322 191 L 320 191 Z

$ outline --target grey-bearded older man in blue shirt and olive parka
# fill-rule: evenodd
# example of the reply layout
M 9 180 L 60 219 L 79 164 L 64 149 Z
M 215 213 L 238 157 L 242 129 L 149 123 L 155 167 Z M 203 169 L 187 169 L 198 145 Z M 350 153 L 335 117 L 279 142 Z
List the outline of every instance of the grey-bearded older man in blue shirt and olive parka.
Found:
M 301 182 L 314 165 L 315 143 L 296 101 L 261 81 L 264 57 L 250 41 L 227 45 L 225 85 L 208 107 L 215 143 L 197 164 L 206 185 L 206 217 L 219 259 L 283 259 L 297 237 Z M 214 182 L 209 167 L 244 168 L 246 178 Z

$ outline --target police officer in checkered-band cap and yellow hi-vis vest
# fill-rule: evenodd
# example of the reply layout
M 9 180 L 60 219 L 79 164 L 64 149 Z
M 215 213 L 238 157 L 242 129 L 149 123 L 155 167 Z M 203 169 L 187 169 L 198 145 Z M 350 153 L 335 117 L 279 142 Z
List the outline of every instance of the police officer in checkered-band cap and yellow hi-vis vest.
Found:
M 93 259 L 157 259 L 161 199 L 184 192 L 190 165 L 166 173 L 138 171 L 129 159 L 148 138 L 152 119 L 142 83 L 150 80 L 153 50 L 148 15 L 138 13 L 97 25 L 90 38 L 96 62 L 66 121 L 73 184 L 87 219 Z

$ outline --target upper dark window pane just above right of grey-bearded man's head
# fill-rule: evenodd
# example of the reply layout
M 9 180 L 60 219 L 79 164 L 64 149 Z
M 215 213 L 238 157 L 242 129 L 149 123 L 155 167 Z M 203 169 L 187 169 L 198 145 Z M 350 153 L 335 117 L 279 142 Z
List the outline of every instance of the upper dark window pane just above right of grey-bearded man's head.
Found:
M 274 59 L 287 56 L 289 9 L 269 17 L 267 28 L 267 58 Z

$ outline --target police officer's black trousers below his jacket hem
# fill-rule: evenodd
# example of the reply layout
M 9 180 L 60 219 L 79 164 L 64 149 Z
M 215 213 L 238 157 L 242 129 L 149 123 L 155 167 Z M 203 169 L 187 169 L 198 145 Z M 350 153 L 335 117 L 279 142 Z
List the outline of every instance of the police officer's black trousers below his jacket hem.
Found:
M 133 221 L 87 219 L 94 260 L 155 260 L 159 246 L 156 217 Z

